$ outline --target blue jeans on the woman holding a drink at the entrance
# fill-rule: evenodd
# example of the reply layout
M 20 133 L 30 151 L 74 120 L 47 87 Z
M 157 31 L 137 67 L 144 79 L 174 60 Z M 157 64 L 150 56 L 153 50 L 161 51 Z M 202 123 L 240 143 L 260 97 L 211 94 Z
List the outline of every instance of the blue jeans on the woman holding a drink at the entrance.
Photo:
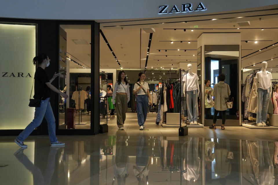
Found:
M 147 95 L 136 96 L 136 109 L 139 126 L 143 126 L 147 119 L 148 103 L 149 100 Z

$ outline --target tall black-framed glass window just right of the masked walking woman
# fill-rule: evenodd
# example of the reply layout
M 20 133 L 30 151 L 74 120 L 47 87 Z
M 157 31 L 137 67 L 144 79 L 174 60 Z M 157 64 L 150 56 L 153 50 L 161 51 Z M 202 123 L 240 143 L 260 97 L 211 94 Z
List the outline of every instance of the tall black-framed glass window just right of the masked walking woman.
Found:
M 91 129 L 91 25 L 59 31 L 59 129 Z

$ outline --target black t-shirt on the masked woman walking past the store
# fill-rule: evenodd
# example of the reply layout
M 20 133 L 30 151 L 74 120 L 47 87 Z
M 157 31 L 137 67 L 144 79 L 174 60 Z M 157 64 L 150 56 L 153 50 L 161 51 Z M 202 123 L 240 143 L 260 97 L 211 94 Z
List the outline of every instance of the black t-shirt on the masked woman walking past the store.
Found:
M 34 82 L 34 99 L 45 100 L 50 97 L 50 88 L 45 84 L 49 82 L 49 79 L 45 73 L 45 70 L 38 67 L 35 72 Z

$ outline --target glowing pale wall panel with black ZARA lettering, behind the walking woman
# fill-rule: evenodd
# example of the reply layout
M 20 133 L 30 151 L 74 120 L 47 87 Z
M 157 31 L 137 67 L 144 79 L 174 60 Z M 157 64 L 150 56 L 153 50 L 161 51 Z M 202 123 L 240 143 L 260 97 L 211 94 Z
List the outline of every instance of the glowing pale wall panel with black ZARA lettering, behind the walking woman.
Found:
M 35 108 L 28 104 L 36 70 L 36 29 L 35 24 L 0 23 L 0 129 L 24 129 L 34 118 Z

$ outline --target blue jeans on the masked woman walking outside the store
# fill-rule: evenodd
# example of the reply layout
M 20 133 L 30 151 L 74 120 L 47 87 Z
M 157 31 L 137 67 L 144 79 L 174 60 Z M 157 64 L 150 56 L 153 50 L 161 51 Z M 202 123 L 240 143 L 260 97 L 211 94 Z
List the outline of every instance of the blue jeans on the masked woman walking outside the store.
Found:
M 54 143 L 58 141 L 56 138 L 56 123 L 55 123 L 55 117 L 50 105 L 50 98 L 47 98 L 45 100 L 41 100 L 41 107 L 35 108 L 35 116 L 33 121 L 17 136 L 17 140 L 24 141 L 32 132 L 33 130 L 41 125 L 41 122 L 43 121 L 43 117 L 45 117 L 47 121 L 47 127 L 48 127 L 48 134 L 50 137 L 50 143 Z

